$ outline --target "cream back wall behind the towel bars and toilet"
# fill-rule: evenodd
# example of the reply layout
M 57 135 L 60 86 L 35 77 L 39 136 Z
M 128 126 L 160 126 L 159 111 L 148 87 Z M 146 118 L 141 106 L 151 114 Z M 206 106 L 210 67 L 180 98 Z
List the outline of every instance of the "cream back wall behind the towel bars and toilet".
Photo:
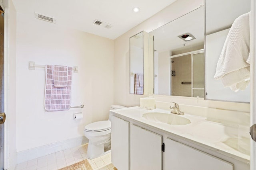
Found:
M 84 126 L 107 120 L 113 104 L 114 41 L 17 13 L 17 152 L 84 136 Z M 28 62 L 78 66 L 68 111 L 44 110 L 44 68 Z M 83 113 L 74 120 L 73 113 Z

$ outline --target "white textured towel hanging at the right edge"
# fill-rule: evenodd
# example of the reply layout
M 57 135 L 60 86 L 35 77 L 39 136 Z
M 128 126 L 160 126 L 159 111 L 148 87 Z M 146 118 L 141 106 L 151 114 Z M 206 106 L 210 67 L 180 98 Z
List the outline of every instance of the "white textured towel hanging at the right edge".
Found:
M 232 24 L 217 63 L 214 79 L 224 87 L 238 92 L 244 90 L 250 78 L 250 12 L 236 18 Z M 247 62 L 248 63 L 247 63 Z

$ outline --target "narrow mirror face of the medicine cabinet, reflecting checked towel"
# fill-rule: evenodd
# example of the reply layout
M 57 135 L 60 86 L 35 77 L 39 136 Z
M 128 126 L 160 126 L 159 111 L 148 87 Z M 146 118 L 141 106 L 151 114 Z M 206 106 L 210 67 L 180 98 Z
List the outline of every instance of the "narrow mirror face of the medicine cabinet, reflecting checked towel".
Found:
M 144 34 L 130 37 L 130 94 L 144 94 Z

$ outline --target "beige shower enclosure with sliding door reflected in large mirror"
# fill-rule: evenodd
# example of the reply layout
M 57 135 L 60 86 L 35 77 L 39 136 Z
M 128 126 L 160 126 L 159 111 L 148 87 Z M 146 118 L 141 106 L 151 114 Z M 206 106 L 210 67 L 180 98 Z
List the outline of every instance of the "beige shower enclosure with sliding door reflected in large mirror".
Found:
M 204 50 L 171 56 L 171 95 L 204 98 Z

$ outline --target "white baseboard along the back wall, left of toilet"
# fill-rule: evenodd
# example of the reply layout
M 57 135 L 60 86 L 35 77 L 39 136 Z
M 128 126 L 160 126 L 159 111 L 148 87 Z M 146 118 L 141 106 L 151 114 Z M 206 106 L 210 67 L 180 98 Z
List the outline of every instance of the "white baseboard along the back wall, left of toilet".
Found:
M 17 164 L 28 161 L 28 160 L 36 159 L 38 157 L 45 156 L 47 154 L 51 154 L 61 150 L 77 147 L 77 146 L 88 143 L 88 141 L 89 140 L 85 136 L 83 136 L 83 137 L 68 139 L 65 141 L 60 141 L 57 143 L 52 143 L 49 145 L 44 145 L 41 147 L 36 147 L 28 150 L 22 150 L 20 152 L 17 152 L 17 155 L 16 155 Z

